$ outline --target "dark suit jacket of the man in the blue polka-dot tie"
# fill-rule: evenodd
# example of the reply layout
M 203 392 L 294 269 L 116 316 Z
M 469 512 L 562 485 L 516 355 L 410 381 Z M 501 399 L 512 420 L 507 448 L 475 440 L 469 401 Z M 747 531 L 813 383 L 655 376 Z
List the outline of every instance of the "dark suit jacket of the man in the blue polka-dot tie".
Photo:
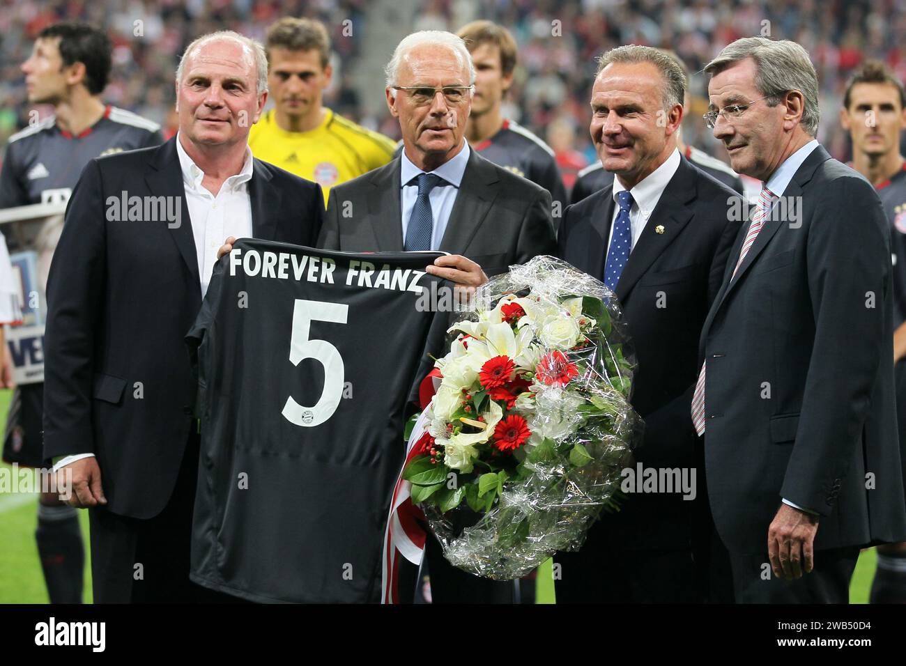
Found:
M 612 189 L 611 183 L 567 208 L 559 234 L 560 256 L 602 281 Z M 737 196 L 680 157 L 617 283 L 638 361 L 632 406 L 645 421 L 645 436 L 635 458 L 645 468 L 694 465 L 689 403 L 698 372 L 699 334 L 741 225 L 728 216 Z M 596 541 L 610 547 L 688 547 L 692 504 L 681 493 L 631 495 L 620 513 L 602 516 L 594 532 L 606 532 L 605 538 L 590 535 L 580 555 L 589 555 Z

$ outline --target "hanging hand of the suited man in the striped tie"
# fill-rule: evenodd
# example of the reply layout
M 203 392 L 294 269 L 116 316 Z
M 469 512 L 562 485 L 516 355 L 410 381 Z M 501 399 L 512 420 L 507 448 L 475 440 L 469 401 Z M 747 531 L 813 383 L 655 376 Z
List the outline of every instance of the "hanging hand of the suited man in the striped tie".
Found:
M 788 581 L 814 569 L 814 535 L 818 516 L 784 503 L 767 528 L 767 556 L 774 575 Z

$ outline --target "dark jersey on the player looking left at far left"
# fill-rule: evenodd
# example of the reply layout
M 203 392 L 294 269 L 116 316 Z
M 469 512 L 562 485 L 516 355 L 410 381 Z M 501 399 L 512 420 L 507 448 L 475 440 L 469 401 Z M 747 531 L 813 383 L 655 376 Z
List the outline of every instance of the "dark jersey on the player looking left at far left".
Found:
M 9 138 L 0 173 L 0 208 L 66 203 L 82 169 L 101 155 L 159 146 L 160 126 L 107 106 L 100 121 L 72 136 L 52 116 Z

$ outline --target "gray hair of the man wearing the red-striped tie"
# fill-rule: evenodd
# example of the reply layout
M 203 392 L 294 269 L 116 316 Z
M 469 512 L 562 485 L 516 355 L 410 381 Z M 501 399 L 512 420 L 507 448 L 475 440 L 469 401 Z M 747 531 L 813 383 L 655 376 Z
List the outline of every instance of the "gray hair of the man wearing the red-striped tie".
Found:
M 788 91 L 802 92 L 805 106 L 802 129 L 814 137 L 818 133 L 821 108 L 818 106 L 818 75 L 805 49 L 795 42 L 774 42 L 766 37 L 743 37 L 724 47 L 714 60 L 705 66 L 712 76 L 746 58 L 755 62 L 755 85 L 768 106 L 776 106 Z

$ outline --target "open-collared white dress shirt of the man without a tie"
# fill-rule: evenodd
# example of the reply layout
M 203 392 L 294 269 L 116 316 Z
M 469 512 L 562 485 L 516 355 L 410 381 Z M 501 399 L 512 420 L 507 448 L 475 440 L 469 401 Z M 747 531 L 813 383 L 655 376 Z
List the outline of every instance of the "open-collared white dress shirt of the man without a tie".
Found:
M 248 194 L 248 181 L 252 179 L 252 149 L 246 146 L 246 161 L 242 170 L 224 180 L 217 197 L 201 186 L 205 173 L 183 149 L 178 134 L 176 151 L 186 190 L 189 223 L 192 225 L 192 236 L 195 236 L 198 279 L 201 282 L 201 297 L 204 298 L 214 265 L 217 264 L 217 249 L 228 236 L 252 237 L 252 199 Z M 93 456 L 93 453 L 63 456 L 54 462 L 53 470 Z

